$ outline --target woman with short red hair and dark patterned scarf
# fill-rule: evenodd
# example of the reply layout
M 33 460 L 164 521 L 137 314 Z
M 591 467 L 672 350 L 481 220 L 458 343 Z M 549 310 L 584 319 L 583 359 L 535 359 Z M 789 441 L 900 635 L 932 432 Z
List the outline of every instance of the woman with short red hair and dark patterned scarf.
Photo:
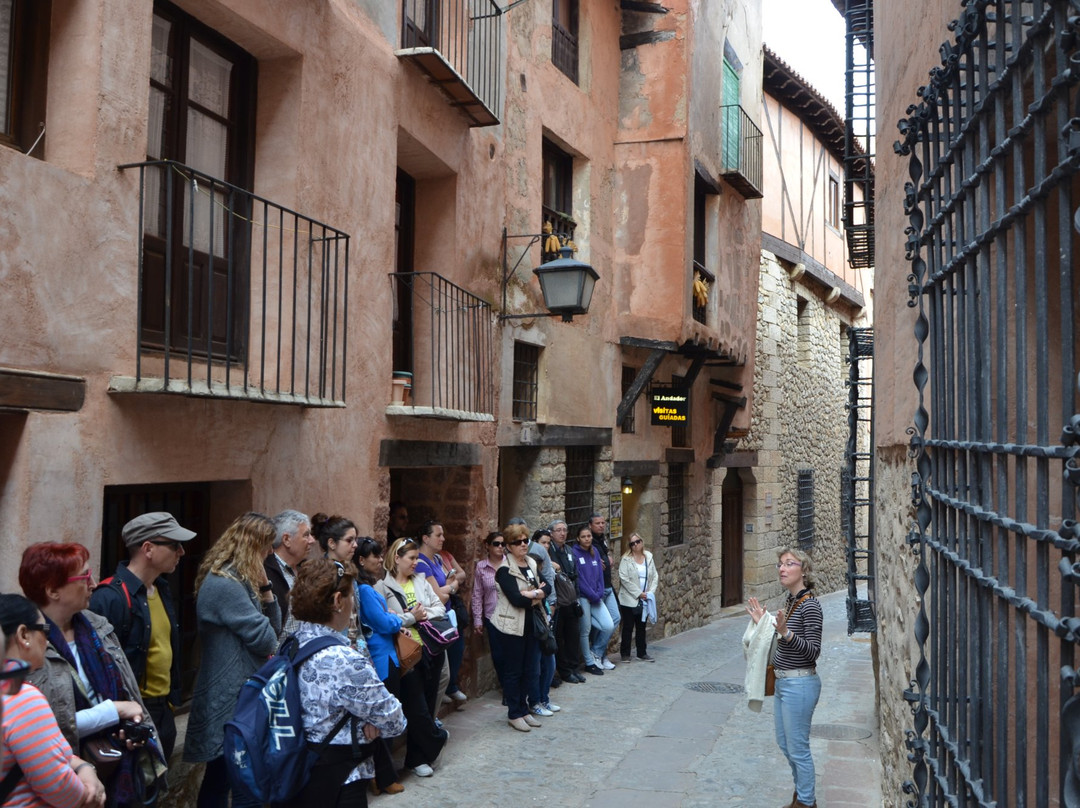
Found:
M 45 625 L 43 663 L 29 681 L 49 701 L 64 738 L 80 752 L 87 742 L 105 739 L 121 749 L 120 764 L 105 783 L 109 805 L 152 799 L 165 760 L 112 625 L 89 609 L 95 584 L 90 551 L 77 543 L 30 544 L 23 552 L 18 582 L 41 609 Z M 122 722 L 149 725 L 147 754 L 143 742 L 125 739 Z

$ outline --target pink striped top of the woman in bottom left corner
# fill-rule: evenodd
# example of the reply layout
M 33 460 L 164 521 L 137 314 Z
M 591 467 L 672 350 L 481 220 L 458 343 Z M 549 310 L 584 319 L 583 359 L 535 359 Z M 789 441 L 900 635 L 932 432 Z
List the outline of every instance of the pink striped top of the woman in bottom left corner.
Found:
M 13 758 L 23 769 L 23 780 L 4 808 L 76 808 L 82 802 L 85 786 L 71 769 L 71 746 L 33 685 L 23 685 L 18 693 L 4 698 L 3 741 L 6 753 L 0 777 L 8 773 Z

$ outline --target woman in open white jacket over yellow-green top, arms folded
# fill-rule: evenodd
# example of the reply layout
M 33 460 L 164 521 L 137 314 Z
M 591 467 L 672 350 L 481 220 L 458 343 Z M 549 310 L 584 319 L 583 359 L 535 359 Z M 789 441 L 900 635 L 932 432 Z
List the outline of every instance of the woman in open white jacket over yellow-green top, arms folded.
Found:
M 413 539 L 397 539 L 390 546 L 383 560 L 387 577 L 375 584 L 376 591 L 387 598 L 387 608 L 401 616 L 402 627 L 416 642 L 421 642 L 416 624 L 432 618 L 446 617 L 446 607 L 432 590 L 423 575 L 416 573 L 420 548 Z M 423 695 L 432 717 L 438 715 L 438 675 L 446 661 L 446 651 L 432 656 L 426 649 L 417 665 L 423 676 Z

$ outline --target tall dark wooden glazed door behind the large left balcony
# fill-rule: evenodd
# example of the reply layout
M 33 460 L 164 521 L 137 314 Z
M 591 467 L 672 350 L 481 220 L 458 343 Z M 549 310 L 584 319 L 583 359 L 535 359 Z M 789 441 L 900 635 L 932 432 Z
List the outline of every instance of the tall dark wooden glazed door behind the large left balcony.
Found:
M 199 175 L 147 175 L 141 317 L 151 347 L 168 334 L 173 348 L 190 338 L 203 355 L 244 355 L 251 212 L 222 180 L 252 185 L 255 75 L 255 59 L 235 44 L 174 5 L 154 5 L 147 159 Z

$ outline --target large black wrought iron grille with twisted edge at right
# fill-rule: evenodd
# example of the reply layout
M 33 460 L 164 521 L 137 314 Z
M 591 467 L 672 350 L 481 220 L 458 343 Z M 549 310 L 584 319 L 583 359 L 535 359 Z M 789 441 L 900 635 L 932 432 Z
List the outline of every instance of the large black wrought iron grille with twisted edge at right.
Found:
M 919 394 L 909 805 L 1080 805 L 1078 0 L 964 0 L 900 122 Z

